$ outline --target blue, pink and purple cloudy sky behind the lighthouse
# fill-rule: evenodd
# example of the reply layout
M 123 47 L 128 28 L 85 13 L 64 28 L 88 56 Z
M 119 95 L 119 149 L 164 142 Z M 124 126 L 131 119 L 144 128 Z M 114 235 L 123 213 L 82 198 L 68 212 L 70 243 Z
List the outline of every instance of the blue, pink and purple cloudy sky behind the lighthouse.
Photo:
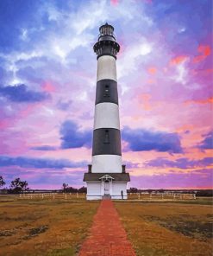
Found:
M 91 163 L 105 22 L 128 188 L 212 188 L 210 0 L 0 1 L 0 176 L 30 189 L 79 188 Z

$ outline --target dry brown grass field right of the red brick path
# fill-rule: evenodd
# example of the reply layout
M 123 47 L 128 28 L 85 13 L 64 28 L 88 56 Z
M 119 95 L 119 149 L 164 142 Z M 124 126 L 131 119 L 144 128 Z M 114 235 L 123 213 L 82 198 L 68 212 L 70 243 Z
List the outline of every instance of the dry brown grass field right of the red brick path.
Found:
M 204 200 L 116 202 L 138 256 L 212 255 L 212 207 Z

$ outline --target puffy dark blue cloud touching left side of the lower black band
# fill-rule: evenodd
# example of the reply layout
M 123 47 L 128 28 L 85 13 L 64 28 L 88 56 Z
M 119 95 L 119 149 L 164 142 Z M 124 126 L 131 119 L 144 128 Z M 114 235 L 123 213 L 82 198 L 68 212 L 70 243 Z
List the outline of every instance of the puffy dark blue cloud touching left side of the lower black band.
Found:
M 62 149 L 91 147 L 91 131 L 79 131 L 78 125 L 66 120 L 60 127 Z

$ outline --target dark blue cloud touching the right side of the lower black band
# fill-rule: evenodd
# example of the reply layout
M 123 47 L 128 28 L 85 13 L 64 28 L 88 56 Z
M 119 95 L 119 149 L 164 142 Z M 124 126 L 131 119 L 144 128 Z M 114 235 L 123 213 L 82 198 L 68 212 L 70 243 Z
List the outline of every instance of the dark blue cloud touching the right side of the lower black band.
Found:
M 157 150 L 160 152 L 181 153 L 182 148 L 177 133 L 163 131 L 147 131 L 144 129 L 130 129 L 125 126 L 122 139 L 128 142 L 132 151 Z

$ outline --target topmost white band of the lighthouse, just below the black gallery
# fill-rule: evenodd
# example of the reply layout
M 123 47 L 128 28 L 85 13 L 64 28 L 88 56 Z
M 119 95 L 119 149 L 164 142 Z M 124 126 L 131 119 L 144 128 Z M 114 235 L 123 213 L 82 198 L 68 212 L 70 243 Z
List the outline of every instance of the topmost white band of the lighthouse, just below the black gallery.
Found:
M 97 81 L 103 79 L 116 81 L 116 59 L 110 55 L 103 55 L 97 60 Z

